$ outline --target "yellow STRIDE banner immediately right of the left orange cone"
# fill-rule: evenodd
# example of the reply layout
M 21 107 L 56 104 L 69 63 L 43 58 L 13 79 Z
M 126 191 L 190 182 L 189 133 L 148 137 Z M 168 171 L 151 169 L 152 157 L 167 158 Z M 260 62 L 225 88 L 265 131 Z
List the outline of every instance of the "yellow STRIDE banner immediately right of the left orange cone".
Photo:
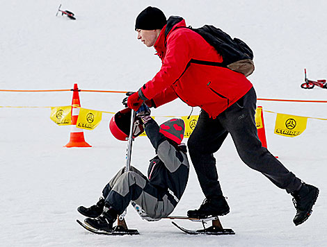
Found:
M 79 108 L 79 118 L 77 119 L 76 127 L 84 130 L 93 130 L 100 123 L 102 112 L 98 110 L 89 110 Z

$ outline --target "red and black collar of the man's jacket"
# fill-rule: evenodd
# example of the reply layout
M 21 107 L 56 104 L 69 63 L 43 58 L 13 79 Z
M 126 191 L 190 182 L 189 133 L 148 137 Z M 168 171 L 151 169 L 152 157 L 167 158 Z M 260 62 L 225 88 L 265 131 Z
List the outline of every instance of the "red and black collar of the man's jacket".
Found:
M 166 53 L 166 40 L 168 35 L 170 35 L 175 28 L 180 26 L 186 26 L 185 20 L 182 17 L 172 16 L 168 18 L 166 26 L 163 26 L 161 29 L 157 41 L 154 43 L 154 49 L 156 49 L 160 58 L 163 53 Z

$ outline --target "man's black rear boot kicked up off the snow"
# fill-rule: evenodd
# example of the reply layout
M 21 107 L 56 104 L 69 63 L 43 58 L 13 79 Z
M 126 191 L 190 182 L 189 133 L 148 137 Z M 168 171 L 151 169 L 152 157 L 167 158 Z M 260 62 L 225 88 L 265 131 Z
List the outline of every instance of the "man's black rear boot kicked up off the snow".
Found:
M 319 189 L 303 182 L 301 189 L 291 193 L 293 203 L 296 208 L 296 216 L 293 219 L 295 225 L 300 225 L 306 221 L 312 213 L 312 207 L 316 203 Z

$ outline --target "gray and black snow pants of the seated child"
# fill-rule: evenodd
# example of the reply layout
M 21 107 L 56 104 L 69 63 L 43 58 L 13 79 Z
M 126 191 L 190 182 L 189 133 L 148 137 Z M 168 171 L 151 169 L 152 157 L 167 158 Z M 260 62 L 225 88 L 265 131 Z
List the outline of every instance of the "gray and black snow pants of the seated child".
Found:
M 102 194 L 105 203 L 119 214 L 124 212 L 131 201 L 141 206 L 152 219 L 168 216 L 175 208 L 168 200 L 168 192 L 151 185 L 147 177 L 135 167 L 131 167 L 128 172 L 125 172 L 125 167 L 120 169 L 104 187 Z

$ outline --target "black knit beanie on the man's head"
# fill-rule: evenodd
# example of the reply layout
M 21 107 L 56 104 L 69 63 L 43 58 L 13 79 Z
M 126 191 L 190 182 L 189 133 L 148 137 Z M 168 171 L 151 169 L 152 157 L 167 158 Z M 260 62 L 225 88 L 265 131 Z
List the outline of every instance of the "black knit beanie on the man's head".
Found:
M 161 29 L 167 23 L 166 16 L 159 8 L 147 7 L 136 17 L 135 30 Z

